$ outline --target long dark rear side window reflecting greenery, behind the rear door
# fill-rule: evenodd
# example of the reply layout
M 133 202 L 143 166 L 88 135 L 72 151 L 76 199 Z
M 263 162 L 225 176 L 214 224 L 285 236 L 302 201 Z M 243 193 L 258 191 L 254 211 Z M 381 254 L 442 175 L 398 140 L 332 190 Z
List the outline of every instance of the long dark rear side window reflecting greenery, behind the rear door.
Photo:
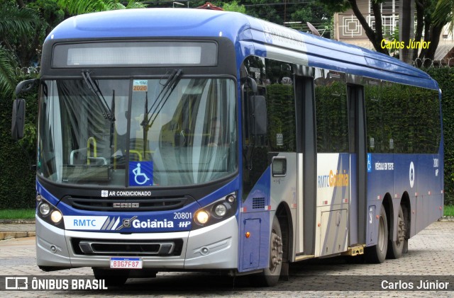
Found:
M 441 140 L 438 92 L 398 84 L 367 85 L 365 104 L 368 151 L 438 152 Z M 370 138 L 374 139 L 373 146 Z

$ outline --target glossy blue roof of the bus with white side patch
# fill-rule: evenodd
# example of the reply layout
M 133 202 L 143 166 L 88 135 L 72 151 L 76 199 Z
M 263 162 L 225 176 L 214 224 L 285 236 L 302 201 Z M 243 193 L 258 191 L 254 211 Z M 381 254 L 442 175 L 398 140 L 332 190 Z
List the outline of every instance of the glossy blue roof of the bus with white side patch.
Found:
M 240 46 L 239 64 L 247 55 L 258 55 L 438 90 L 428 74 L 398 59 L 227 11 L 143 8 L 88 13 L 63 21 L 46 40 L 210 36 L 229 38 L 237 49 Z

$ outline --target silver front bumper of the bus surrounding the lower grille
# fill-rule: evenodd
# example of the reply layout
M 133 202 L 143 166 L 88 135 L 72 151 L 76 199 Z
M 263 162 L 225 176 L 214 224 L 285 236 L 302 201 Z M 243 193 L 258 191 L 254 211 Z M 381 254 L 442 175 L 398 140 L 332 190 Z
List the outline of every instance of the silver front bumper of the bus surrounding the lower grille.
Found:
M 182 239 L 179 256 L 140 256 L 143 268 L 159 271 L 238 268 L 238 223 L 231 217 L 195 231 L 173 233 L 103 233 L 62 230 L 36 219 L 36 262 L 48 267 L 109 268 L 111 256 L 76 253 L 72 239 L 94 241 L 168 241 Z

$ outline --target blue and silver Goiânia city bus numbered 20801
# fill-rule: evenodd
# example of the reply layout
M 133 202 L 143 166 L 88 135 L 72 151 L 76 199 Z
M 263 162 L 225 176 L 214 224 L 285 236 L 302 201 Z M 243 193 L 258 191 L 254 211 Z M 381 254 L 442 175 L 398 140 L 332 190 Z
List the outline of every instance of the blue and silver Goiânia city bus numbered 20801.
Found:
M 370 50 L 225 11 L 89 13 L 33 84 L 45 271 L 275 285 L 299 260 L 399 258 L 443 214 L 438 84 Z

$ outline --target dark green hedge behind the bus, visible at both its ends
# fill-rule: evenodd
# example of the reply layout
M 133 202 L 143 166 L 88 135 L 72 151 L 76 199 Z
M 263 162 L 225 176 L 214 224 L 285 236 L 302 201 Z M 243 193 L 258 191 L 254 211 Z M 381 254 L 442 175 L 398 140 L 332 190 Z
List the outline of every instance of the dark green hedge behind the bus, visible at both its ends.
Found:
M 445 139 L 445 204 L 454 205 L 454 68 L 426 70 L 443 91 Z M 35 205 L 35 134 L 38 105 L 36 93 L 26 96 L 27 139 L 11 140 L 11 98 L 0 99 L 0 209 L 29 208 Z

